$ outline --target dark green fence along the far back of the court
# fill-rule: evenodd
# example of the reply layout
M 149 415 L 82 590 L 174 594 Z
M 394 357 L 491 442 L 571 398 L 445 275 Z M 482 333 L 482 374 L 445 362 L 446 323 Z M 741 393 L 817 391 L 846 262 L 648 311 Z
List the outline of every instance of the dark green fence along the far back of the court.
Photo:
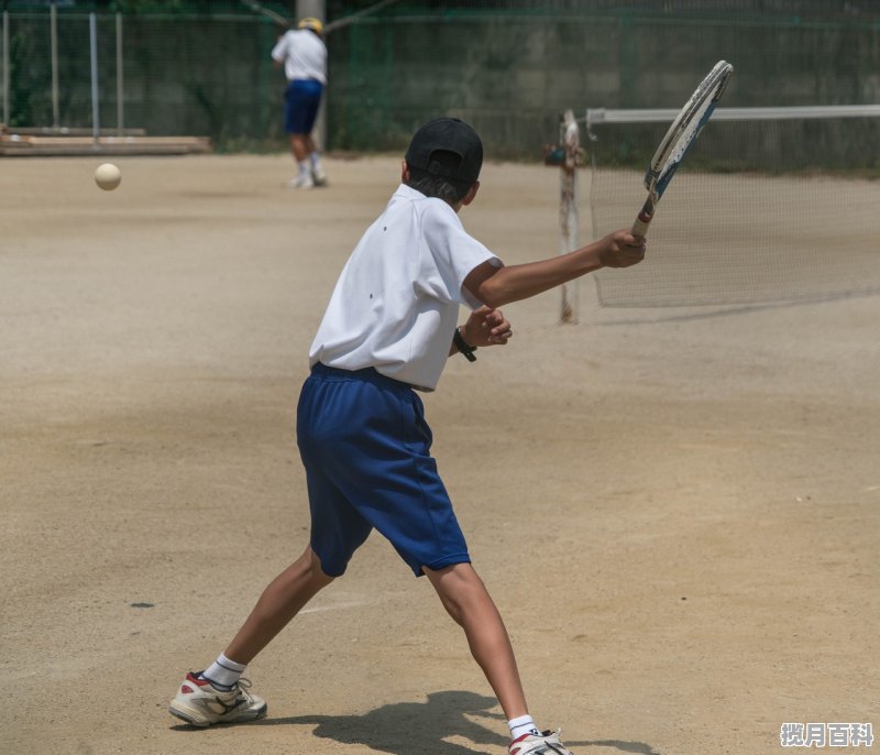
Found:
M 289 15 L 293 3 L 264 4 Z M 880 102 L 879 4 L 392 3 L 328 35 L 326 147 L 398 150 L 426 119 L 452 114 L 483 133 L 493 157 L 537 157 L 564 110 L 679 107 L 721 57 L 736 66 L 728 106 Z M 243 3 L 161 6 L 68 2 L 53 14 L 7 3 L 0 118 L 9 129 L 95 127 L 95 12 L 100 127 L 283 149 L 284 80 L 270 59 L 282 28 Z M 327 10 L 367 6 L 329 0 Z

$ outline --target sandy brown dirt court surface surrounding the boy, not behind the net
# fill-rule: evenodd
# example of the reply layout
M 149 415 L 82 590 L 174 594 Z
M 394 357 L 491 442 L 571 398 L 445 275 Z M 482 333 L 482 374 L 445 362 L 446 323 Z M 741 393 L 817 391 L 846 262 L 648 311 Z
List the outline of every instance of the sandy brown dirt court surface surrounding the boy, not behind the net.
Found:
M 505 753 L 463 635 L 376 535 L 249 667 L 268 718 L 168 715 L 307 543 L 307 349 L 399 160 L 329 160 L 310 193 L 284 154 L 120 157 L 113 193 L 99 162 L 0 162 L 0 752 Z M 462 219 L 508 264 L 552 255 L 558 185 L 490 164 Z M 880 729 L 880 297 L 591 291 L 575 326 L 559 292 L 506 307 L 513 341 L 425 396 L 536 720 L 576 755 Z

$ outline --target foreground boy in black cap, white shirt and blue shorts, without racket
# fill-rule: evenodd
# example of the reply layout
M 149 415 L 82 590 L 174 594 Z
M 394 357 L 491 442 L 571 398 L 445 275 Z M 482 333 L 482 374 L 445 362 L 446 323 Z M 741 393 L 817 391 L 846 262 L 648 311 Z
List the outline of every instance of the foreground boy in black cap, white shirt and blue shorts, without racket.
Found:
M 245 666 L 322 588 L 341 577 L 378 529 L 464 630 L 510 730 L 509 755 L 570 755 L 528 713 L 507 631 L 470 562 L 430 456 L 431 430 L 414 391 L 432 391 L 457 351 L 507 343 L 498 309 L 603 266 L 645 256 L 620 230 L 565 255 L 504 266 L 470 237 L 459 210 L 480 188 L 483 145 L 466 123 L 440 118 L 413 136 L 402 185 L 343 269 L 311 344 L 297 409 L 311 534 L 305 552 L 265 589 L 232 643 L 190 672 L 172 714 L 197 726 L 249 721 L 266 703 Z M 471 308 L 455 327 L 459 305 Z

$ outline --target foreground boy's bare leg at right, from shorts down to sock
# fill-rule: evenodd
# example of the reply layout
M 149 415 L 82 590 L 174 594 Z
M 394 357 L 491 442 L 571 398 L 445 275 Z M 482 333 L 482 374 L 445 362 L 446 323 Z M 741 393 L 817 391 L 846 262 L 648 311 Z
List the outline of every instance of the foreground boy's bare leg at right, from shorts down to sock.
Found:
M 464 630 L 471 654 L 498 698 L 507 720 L 528 713 L 514 648 L 498 609 L 470 563 L 425 573 L 449 615 Z

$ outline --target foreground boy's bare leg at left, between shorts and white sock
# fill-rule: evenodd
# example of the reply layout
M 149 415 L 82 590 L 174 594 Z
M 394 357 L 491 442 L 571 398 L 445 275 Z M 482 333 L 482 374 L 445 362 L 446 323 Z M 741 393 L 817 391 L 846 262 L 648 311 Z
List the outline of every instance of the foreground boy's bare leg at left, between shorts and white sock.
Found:
M 306 603 L 332 581 L 333 578 L 321 570 L 315 551 L 306 548 L 296 561 L 270 582 L 223 655 L 235 663 L 250 664 Z

